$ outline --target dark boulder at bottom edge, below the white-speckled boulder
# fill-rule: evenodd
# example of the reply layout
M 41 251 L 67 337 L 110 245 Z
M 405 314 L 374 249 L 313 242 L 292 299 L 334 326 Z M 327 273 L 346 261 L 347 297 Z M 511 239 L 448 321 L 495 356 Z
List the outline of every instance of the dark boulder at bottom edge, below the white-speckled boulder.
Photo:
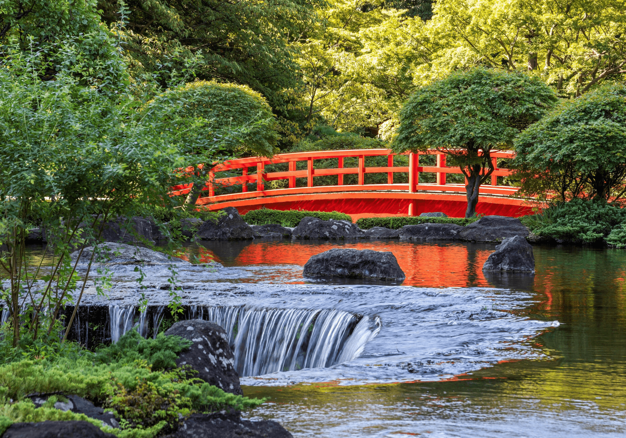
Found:
M 242 420 L 239 415 L 192 414 L 172 438 L 292 438 L 272 420 Z

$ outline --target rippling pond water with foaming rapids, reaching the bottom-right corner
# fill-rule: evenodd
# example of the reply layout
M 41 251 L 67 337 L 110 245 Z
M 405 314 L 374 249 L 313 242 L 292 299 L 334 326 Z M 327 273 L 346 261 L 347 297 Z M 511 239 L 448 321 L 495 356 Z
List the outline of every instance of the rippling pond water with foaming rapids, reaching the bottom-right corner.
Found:
M 392 251 L 406 280 L 303 278 L 309 257 L 333 247 Z M 244 394 L 267 397 L 245 415 L 277 420 L 294 437 L 626 435 L 626 252 L 535 246 L 535 275 L 486 277 L 481 267 L 494 247 L 203 242 L 187 253 L 224 268 L 177 268 L 177 281 L 185 304 L 222 309 L 210 318 L 239 324 L 240 333 L 244 317 L 262 312 L 277 312 L 274 334 L 283 328 L 299 339 L 298 326 L 312 320 L 326 330 L 299 364 L 240 364 Z M 170 273 L 146 274 L 149 299 L 163 303 L 168 293 L 158 285 Z M 109 302 L 136 303 L 135 278 L 129 267 L 115 268 Z M 246 327 L 254 331 L 254 318 Z M 232 338 L 241 357 L 277 354 L 272 344 L 287 342 L 259 327 L 249 337 L 259 345 Z M 332 334 L 337 327 L 349 327 L 351 337 Z M 335 347 L 324 339 L 343 342 L 342 350 L 326 351 Z

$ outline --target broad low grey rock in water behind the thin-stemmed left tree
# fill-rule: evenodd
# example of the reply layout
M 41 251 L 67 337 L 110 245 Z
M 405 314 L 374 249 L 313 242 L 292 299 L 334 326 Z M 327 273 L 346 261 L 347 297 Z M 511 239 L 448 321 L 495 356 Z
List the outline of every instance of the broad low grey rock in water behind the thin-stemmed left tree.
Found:
M 188 264 L 187 260 L 177 257 L 169 257 L 167 254 L 150 250 L 148 248 L 133 247 L 127 243 L 105 242 L 96 245 L 100 254 L 96 254 L 95 262 L 107 263 L 108 265 L 177 265 Z M 89 263 L 94 247 L 86 247 L 80 258 L 80 263 Z M 70 254 L 72 261 L 78 258 L 79 251 Z

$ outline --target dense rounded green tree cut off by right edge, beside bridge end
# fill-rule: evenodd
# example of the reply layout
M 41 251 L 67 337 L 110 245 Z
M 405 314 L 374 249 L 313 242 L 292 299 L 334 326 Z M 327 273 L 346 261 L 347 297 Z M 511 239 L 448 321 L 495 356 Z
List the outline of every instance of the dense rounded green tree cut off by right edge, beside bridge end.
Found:
M 563 101 L 520 134 L 515 150 L 529 195 L 619 200 L 626 193 L 626 86 Z

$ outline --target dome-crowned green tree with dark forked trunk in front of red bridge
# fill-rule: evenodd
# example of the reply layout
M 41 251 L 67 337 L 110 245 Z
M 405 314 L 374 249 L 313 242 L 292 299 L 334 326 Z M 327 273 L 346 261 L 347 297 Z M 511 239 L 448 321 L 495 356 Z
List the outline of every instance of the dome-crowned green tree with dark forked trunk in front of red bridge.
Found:
M 424 86 L 400 111 L 394 149 L 446 153 L 467 179 L 468 208 L 476 213 L 480 185 L 493 173 L 491 150 L 513 146 L 524 128 L 539 120 L 556 97 L 538 78 L 476 68 Z

